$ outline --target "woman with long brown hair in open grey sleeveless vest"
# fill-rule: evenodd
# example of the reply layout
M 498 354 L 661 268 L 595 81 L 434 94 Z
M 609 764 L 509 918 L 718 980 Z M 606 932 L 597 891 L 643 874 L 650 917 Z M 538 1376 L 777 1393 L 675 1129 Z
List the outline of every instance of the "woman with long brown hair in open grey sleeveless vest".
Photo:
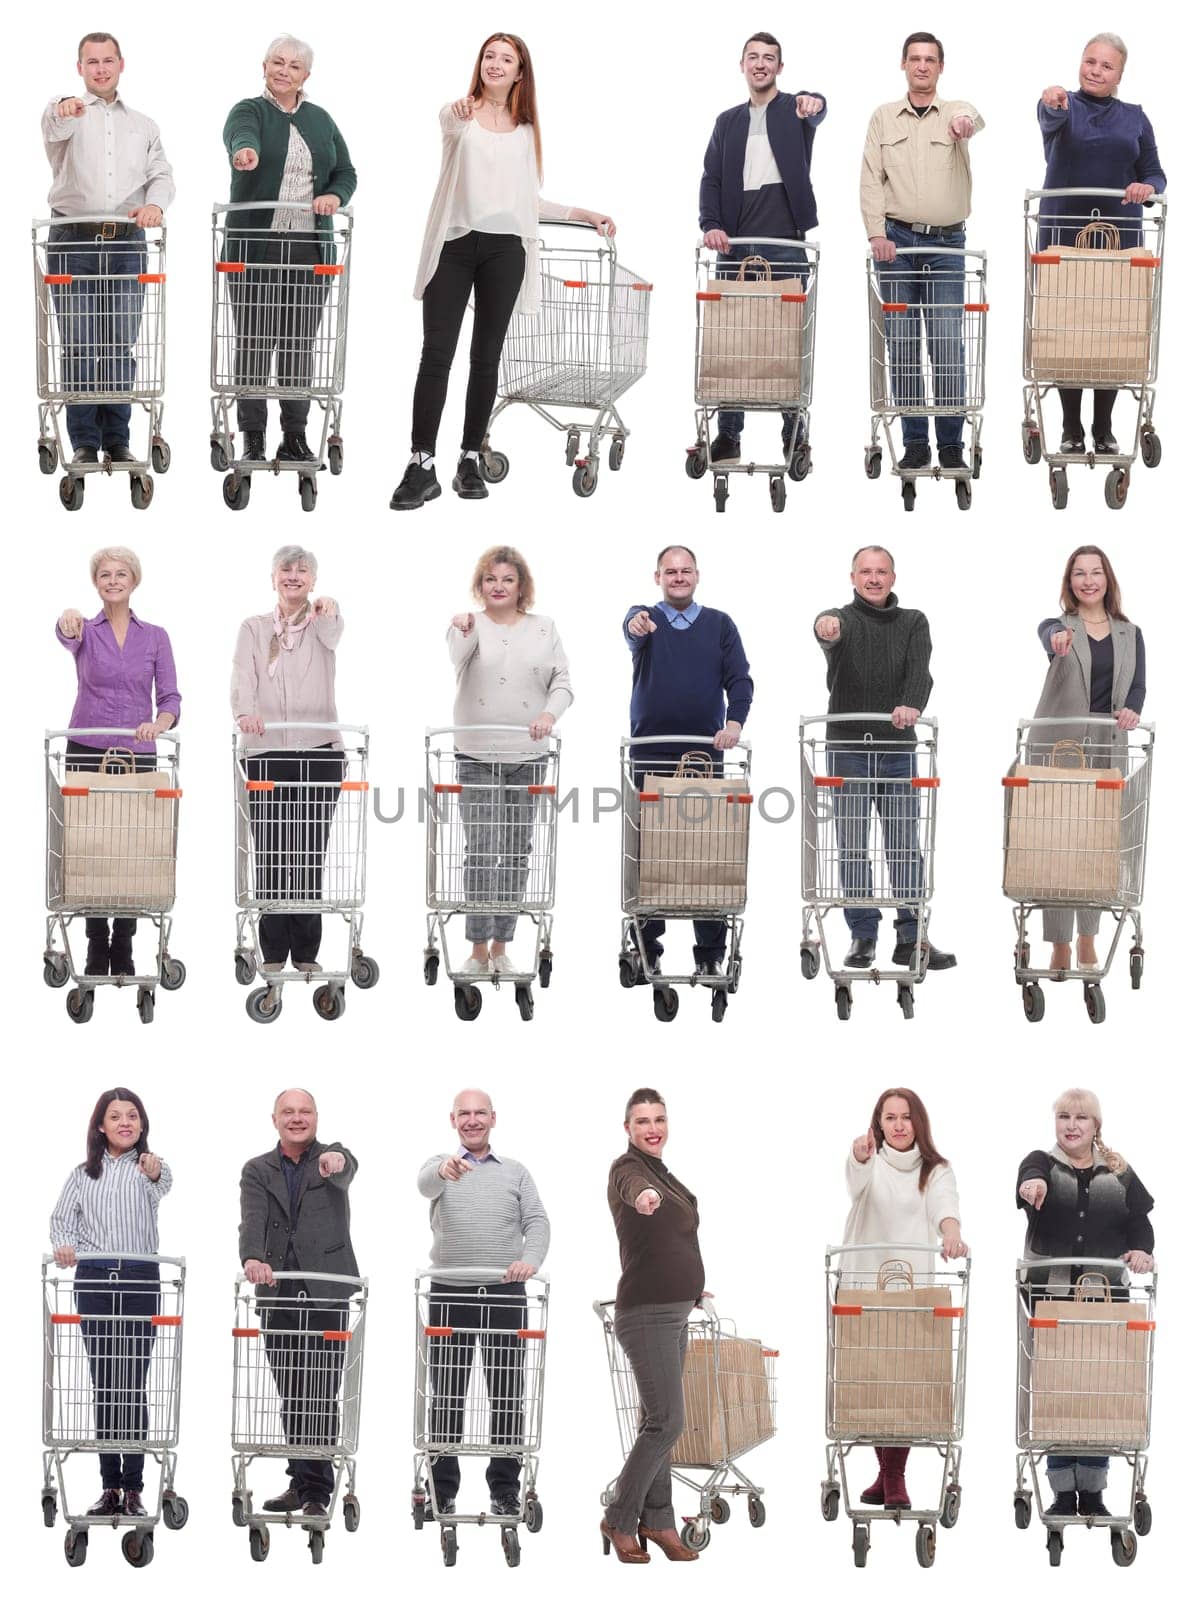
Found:
M 1037 637 L 1049 654 L 1045 686 L 1036 717 L 1116 718 L 1085 725 L 1036 730 L 1037 744 L 1057 739 L 1090 741 L 1098 765 L 1113 765 L 1127 746 L 1127 733 L 1141 720 L 1145 706 L 1145 640 L 1141 630 L 1121 610 L 1121 586 L 1111 562 L 1095 544 L 1079 546 L 1066 562 L 1061 579 L 1061 616 L 1047 618 Z M 1069 941 L 1077 918 L 1077 962 L 1081 970 L 1098 966 L 1095 934 L 1100 914 L 1074 912 L 1069 906 L 1047 906 L 1042 912 L 1045 939 L 1053 944 L 1050 966 L 1069 968 Z

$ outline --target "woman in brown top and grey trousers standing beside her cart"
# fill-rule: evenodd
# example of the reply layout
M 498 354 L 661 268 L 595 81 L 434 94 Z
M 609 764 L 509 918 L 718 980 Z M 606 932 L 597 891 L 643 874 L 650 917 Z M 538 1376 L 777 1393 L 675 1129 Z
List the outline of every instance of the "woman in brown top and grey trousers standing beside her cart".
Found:
M 671 1502 L 671 1451 L 684 1430 L 687 1318 L 704 1293 L 700 1210 L 668 1171 L 666 1102 L 634 1090 L 624 1107 L 629 1149 L 612 1163 L 608 1210 L 616 1224 L 621 1277 L 615 1330 L 642 1405 L 640 1427 L 600 1522 L 604 1554 L 648 1562 L 647 1542 L 669 1562 L 693 1562 L 679 1538 Z

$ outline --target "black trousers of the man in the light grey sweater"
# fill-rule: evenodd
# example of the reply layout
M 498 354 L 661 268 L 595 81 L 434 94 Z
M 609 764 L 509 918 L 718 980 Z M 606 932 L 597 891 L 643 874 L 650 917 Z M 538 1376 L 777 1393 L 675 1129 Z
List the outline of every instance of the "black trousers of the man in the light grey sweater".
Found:
M 429 1323 L 461 1330 L 429 1338 L 429 1438 L 442 1445 L 463 1440 L 466 1390 L 475 1347 L 483 1363 L 491 1445 L 515 1446 L 525 1432 L 525 1341 L 515 1330 L 528 1325 L 523 1283 L 431 1283 Z M 458 1456 L 432 1456 L 437 1504 L 458 1494 Z M 491 1456 L 487 1486 L 496 1498 L 520 1493 L 520 1458 Z

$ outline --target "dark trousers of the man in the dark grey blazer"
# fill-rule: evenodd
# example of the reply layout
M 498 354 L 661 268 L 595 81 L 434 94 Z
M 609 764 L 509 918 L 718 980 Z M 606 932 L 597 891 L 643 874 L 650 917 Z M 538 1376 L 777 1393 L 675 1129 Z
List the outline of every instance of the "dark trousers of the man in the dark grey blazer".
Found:
M 312 1338 L 344 1333 L 349 1317 L 339 1306 L 275 1306 L 259 1302 L 263 1341 L 271 1376 L 279 1390 L 279 1416 L 288 1445 L 333 1450 L 339 1432 L 341 1378 L 346 1341 Z M 328 1506 L 333 1494 L 333 1462 L 298 1456 L 287 1472 L 304 1502 Z

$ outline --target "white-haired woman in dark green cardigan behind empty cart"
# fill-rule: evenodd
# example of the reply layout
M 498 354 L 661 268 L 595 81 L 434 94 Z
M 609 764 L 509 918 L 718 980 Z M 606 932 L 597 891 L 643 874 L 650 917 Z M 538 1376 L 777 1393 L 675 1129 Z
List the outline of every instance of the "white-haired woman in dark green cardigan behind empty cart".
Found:
M 304 94 L 312 46 L 282 35 L 263 59 L 263 93 L 239 101 L 224 123 L 234 205 L 261 200 L 261 211 L 231 219 L 227 259 L 247 262 L 234 274 L 231 299 L 237 334 L 239 387 L 271 384 L 306 390 L 312 382 L 312 344 L 330 280 L 311 269 L 327 264 L 333 213 L 357 187 L 346 141 L 327 110 Z M 258 270 L 256 270 L 258 269 Z M 309 402 L 303 394 L 279 403 L 283 442 L 277 461 L 315 461 L 307 446 Z M 266 461 L 266 398 L 237 402 L 242 459 Z

